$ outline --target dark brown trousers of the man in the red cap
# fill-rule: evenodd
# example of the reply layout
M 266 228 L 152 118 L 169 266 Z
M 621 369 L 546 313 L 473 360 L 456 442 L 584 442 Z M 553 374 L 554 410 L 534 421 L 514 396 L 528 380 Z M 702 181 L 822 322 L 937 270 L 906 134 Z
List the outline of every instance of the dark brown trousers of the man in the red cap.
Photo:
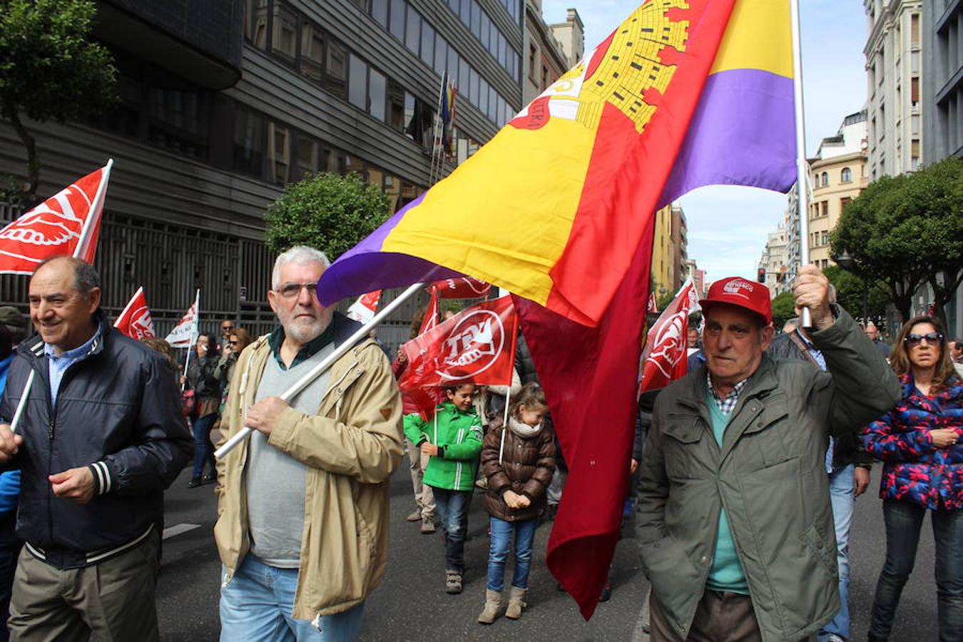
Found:
M 649 639 L 652 642 L 761 642 L 749 596 L 706 590 L 688 634 L 669 624 L 654 591 L 649 593 Z

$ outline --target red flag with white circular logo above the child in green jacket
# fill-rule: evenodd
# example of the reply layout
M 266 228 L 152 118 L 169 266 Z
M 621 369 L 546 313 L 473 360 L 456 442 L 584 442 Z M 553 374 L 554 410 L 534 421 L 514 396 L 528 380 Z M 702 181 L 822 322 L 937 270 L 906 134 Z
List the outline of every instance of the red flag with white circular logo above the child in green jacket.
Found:
M 424 417 L 433 412 L 440 386 L 459 381 L 510 386 L 517 336 L 510 297 L 481 301 L 403 345 L 407 367 L 398 386 Z

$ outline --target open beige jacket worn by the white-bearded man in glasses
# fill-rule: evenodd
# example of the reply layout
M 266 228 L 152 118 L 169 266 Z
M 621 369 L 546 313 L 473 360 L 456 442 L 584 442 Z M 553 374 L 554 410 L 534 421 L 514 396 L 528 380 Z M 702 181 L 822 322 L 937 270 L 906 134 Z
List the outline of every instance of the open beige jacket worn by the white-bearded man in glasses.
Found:
M 268 359 L 267 337 L 241 355 L 221 443 L 244 424 Z M 402 460 L 402 398 L 374 341 L 352 347 L 329 372 L 318 413 L 283 412 L 268 443 L 308 467 L 293 617 L 315 620 L 365 600 L 388 560 L 388 478 Z M 227 585 L 247 554 L 247 441 L 218 462 L 214 526 Z

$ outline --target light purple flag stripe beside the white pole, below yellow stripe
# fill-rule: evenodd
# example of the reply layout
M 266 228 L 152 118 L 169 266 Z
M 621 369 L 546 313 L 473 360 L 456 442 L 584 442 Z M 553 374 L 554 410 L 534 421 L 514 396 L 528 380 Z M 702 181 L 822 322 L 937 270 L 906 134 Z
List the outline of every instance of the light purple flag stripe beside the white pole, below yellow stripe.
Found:
M 706 80 L 660 207 L 706 185 L 788 192 L 795 183 L 793 79 L 759 69 Z

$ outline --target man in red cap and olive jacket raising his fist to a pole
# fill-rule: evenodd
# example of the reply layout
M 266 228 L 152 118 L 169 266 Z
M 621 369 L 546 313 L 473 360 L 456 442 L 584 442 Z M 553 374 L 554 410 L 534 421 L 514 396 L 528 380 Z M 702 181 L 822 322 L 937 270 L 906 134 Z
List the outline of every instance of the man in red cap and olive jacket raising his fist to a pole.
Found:
M 828 291 L 799 270 L 795 303 L 826 372 L 766 356 L 765 286 L 722 279 L 700 301 L 706 367 L 660 394 L 641 464 L 653 642 L 801 640 L 839 611 L 828 440 L 883 414 L 899 387 Z

